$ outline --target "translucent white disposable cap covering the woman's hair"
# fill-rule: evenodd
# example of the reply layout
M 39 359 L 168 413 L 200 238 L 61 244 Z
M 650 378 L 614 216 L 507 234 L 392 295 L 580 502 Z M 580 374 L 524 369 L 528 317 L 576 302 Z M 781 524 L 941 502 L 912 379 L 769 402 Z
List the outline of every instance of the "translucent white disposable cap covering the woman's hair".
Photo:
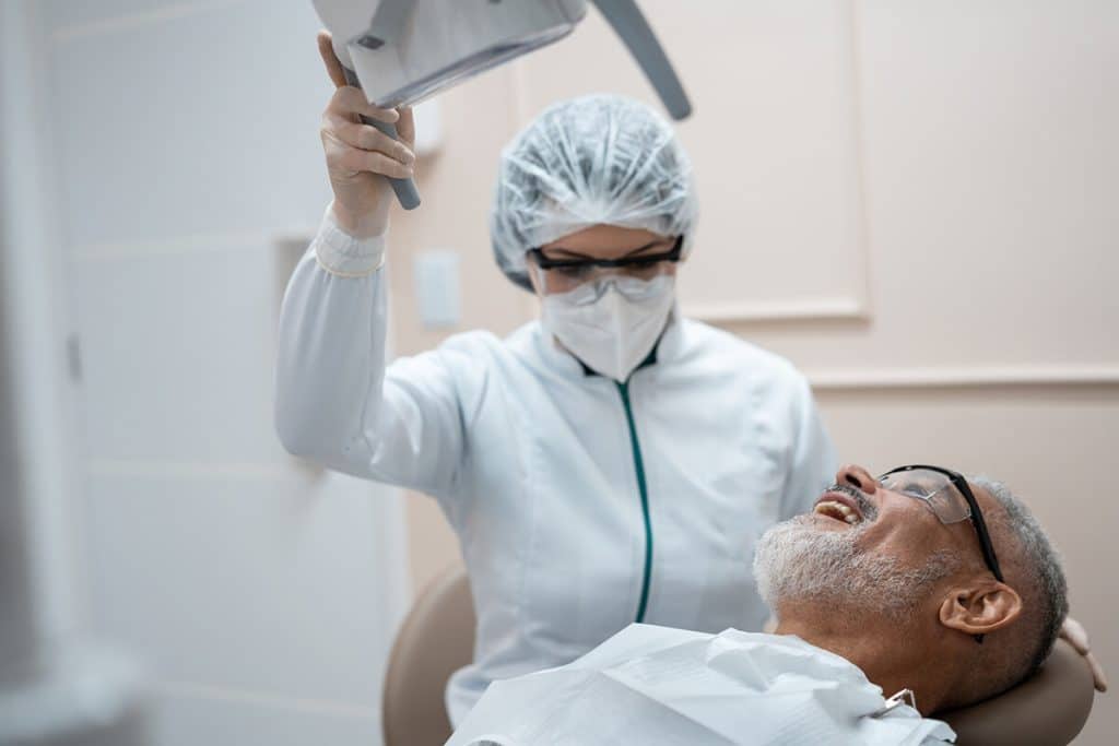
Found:
M 501 152 L 490 214 L 493 256 L 532 290 L 526 253 L 593 225 L 684 236 L 697 218 L 692 163 L 671 125 L 613 95 L 545 110 Z

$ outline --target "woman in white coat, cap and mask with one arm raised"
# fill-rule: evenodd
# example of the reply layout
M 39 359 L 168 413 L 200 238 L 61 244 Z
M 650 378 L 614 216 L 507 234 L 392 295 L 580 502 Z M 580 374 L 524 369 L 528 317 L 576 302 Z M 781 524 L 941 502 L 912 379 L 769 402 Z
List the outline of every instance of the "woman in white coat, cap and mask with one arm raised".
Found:
M 679 314 L 696 199 L 670 126 L 617 96 L 544 112 L 502 153 L 491 216 L 497 262 L 542 319 L 387 365 L 383 177 L 411 176 L 411 112 L 369 106 L 323 56 L 335 200 L 284 299 L 278 429 L 295 454 L 439 501 L 478 614 L 452 723 L 490 681 L 634 621 L 759 630 L 755 539 L 836 464 L 791 365 Z

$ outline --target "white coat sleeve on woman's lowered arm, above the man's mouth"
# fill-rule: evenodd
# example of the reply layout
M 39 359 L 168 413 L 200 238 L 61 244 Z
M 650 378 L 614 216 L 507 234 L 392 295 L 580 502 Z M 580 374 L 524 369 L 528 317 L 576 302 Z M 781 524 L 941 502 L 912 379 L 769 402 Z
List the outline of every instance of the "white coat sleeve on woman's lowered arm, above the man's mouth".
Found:
M 835 448 L 816 408 L 808 380 L 797 374 L 793 407 L 791 459 L 781 497 L 781 520 L 807 512 L 828 484 L 835 480 Z

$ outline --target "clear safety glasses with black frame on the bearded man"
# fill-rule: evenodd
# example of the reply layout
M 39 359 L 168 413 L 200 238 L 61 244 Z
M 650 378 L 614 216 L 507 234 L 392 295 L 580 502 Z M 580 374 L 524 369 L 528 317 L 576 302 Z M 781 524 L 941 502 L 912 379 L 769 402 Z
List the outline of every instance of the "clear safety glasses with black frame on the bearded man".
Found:
M 979 510 L 979 501 L 962 474 L 941 466 L 911 464 L 891 469 L 878 478 L 878 483 L 887 490 L 923 501 L 946 526 L 970 518 L 976 536 L 979 537 L 979 549 L 987 568 L 999 583 L 1005 582 L 995 556 L 995 546 L 987 531 L 987 522 Z M 976 642 L 982 643 L 981 634 L 975 638 Z

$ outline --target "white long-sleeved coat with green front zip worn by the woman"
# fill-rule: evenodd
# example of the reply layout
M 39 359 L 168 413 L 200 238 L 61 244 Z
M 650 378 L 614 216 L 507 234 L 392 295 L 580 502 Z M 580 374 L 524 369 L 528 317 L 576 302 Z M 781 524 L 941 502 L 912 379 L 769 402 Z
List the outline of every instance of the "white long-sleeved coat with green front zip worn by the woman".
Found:
M 298 455 L 439 501 L 478 614 L 452 723 L 490 681 L 567 663 L 634 621 L 761 629 L 754 542 L 835 470 L 790 363 L 674 319 L 626 389 L 536 322 L 386 368 L 383 252 L 325 220 L 284 298 L 276 425 Z

